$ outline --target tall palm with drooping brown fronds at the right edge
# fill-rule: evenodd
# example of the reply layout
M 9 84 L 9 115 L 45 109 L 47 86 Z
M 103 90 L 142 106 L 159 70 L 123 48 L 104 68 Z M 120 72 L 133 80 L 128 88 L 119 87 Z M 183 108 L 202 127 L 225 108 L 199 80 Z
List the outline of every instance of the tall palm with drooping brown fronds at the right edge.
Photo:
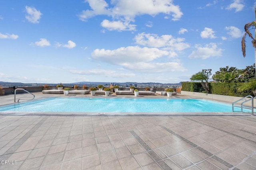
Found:
M 244 25 L 244 36 L 242 37 L 242 52 L 243 52 L 243 56 L 245 57 L 246 55 L 246 51 L 245 51 L 245 48 L 246 48 L 246 41 L 245 41 L 245 38 L 246 38 L 246 35 L 248 35 L 251 39 L 252 39 L 252 46 L 255 48 L 254 49 L 254 58 L 255 58 L 255 63 L 256 63 L 256 7 L 254 8 L 254 14 L 255 14 L 255 21 L 252 21 L 252 22 L 249 22 L 249 23 L 246 23 Z M 252 36 L 252 33 L 250 33 L 250 30 L 251 29 L 254 29 L 254 37 Z M 255 67 L 255 70 L 256 70 L 256 67 Z M 256 75 L 255 75 L 256 76 Z

